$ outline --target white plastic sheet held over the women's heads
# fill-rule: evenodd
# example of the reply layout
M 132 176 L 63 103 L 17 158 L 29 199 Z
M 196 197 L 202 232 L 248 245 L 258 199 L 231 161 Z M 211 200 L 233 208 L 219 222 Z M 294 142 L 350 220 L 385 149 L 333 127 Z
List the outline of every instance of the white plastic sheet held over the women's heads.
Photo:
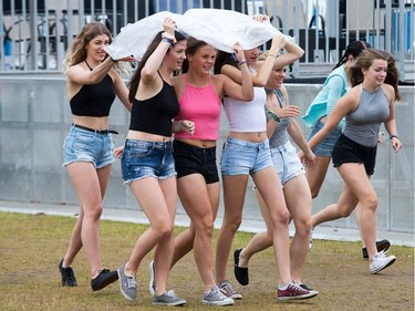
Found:
M 115 60 L 127 55 L 141 60 L 154 37 L 163 31 L 163 22 L 167 17 L 176 21 L 177 31 L 229 53 L 234 52 L 236 42 L 249 50 L 281 33 L 268 22 L 259 22 L 230 10 L 190 9 L 183 15 L 163 11 L 122 28 L 105 51 Z M 288 35 L 286 38 L 293 40 Z

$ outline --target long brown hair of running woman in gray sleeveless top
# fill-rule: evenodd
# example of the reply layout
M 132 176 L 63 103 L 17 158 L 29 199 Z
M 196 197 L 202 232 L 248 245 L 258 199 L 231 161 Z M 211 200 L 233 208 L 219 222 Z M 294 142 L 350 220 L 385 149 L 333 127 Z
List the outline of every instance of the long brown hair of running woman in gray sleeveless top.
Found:
M 397 89 L 398 83 L 398 71 L 395 64 L 395 59 L 391 53 L 376 49 L 366 49 L 356 59 L 355 64 L 349 71 L 349 77 L 352 86 L 359 85 L 363 82 L 363 69 L 369 69 L 374 60 L 384 60 L 387 62 L 387 72 L 385 82 L 395 90 L 395 100 L 401 99 L 400 91 Z

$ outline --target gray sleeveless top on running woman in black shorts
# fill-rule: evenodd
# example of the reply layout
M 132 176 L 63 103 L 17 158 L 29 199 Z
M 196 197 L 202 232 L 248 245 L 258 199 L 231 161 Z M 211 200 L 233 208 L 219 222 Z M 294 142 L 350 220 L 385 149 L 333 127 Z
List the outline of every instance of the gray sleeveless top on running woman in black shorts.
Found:
M 361 84 L 361 91 L 356 110 L 345 116 L 343 134 L 357 144 L 374 147 L 381 124 L 390 116 L 390 102 L 382 87 L 371 93 Z

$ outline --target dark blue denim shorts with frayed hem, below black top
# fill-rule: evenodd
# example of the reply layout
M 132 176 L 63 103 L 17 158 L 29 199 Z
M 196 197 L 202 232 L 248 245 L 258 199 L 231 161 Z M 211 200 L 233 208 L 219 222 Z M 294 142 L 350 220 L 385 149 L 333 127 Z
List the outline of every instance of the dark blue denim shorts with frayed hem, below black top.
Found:
M 175 176 L 172 142 L 126 139 L 121 170 L 125 185 L 146 177 L 166 179 Z

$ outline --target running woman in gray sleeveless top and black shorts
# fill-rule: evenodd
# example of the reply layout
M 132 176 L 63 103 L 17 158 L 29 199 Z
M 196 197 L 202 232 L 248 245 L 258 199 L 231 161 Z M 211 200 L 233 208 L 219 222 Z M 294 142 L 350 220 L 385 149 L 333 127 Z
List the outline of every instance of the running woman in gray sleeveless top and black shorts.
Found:
M 395 262 L 376 248 L 377 195 L 371 184 L 376 162 L 378 129 L 383 123 L 395 152 L 402 148 L 396 134 L 394 103 L 400 100 L 398 72 L 387 52 L 365 49 L 349 71 L 353 89 L 341 97 L 324 126 L 310 141 L 314 148 L 338 126 L 345 125 L 333 148 L 333 165 L 344 185 L 336 204 L 312 216 L 313 228 L 322 222 L 347 217 L 359 204 L 360 228 L 367 248 L 371 273 L 378 273 Z

